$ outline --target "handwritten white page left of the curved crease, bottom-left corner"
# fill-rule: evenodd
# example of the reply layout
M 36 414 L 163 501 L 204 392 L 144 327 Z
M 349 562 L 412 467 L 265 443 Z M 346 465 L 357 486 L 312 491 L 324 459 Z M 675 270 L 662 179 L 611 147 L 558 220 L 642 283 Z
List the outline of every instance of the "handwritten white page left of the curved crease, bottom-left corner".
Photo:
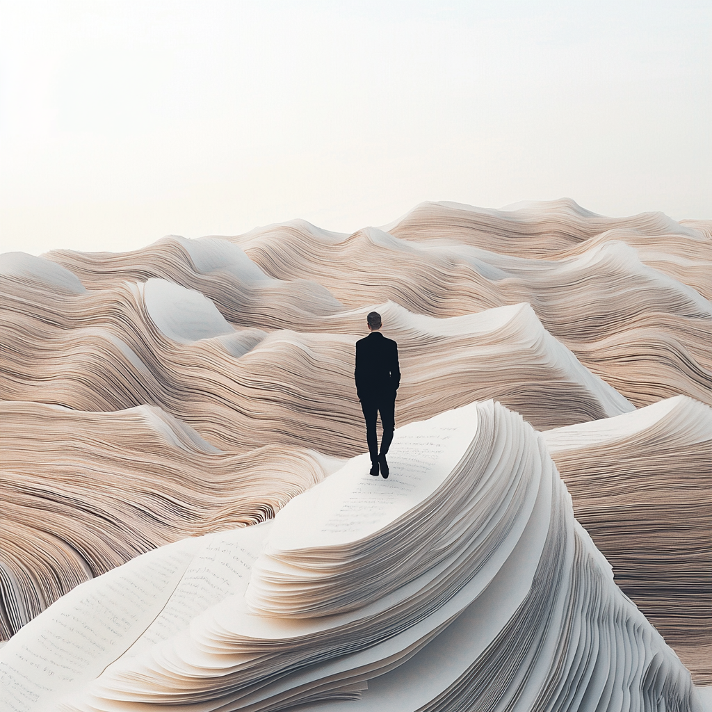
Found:
M 184 539 L 78 585 L 0 650 L 0 712 L 43 709 L 117 659 L 160 612 L 201 543 Z

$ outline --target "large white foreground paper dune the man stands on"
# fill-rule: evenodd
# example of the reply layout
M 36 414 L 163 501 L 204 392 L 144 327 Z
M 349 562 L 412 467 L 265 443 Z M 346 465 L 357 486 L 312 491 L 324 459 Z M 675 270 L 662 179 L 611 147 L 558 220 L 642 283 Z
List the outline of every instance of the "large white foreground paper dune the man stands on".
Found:
M 389 460 L 79 585 L 0 649 L 0 709 L 701 709 L 518 414 L 403 426 Z

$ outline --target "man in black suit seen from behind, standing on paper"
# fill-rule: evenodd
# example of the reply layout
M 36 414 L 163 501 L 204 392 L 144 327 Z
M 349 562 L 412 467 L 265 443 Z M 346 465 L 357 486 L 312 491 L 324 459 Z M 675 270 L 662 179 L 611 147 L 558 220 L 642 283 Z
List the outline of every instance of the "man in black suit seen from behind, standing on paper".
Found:
M 366 419 L 366 441 L 371 456 L 371 474 L 378 476 L 380 468 L 388 478 L 386 454 L 395 429 L 396 391 L 400 385 L 398 347 L 392 339 L 380 333 L 381 315 L 371 312 L 367 316 L 370 334 L 356 342 L 356 392 Z M 383 438 L 378 451 L 376 418 L 381 414 Z

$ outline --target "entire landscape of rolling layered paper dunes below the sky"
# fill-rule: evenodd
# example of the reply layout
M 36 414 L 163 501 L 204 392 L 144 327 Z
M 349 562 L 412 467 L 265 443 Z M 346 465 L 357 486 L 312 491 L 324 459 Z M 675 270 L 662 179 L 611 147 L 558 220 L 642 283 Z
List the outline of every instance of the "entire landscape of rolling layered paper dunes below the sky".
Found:
M 0 709 L 703 708 L 710 274 L 572 201 L 0 256 Z

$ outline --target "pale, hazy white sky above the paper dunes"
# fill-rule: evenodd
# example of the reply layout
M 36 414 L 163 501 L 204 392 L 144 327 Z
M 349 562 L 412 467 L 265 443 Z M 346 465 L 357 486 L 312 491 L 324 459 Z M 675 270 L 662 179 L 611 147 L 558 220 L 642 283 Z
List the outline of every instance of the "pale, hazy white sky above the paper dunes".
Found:
M 712 219 L 709 0 L 0 0 L 0 252 L 426 200 Z

